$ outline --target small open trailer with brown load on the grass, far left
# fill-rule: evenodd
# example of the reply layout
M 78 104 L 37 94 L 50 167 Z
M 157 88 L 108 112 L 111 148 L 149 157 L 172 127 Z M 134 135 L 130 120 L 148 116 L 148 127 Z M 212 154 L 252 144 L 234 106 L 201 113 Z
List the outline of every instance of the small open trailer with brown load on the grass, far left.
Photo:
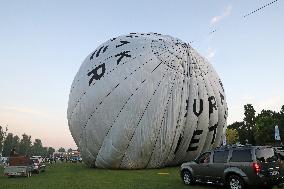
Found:
M 8 177 L 25 176 L 32 174 L 32 162 L 26 156 L 9 157 L 9 165 L 4 168 L 4 175 Z

